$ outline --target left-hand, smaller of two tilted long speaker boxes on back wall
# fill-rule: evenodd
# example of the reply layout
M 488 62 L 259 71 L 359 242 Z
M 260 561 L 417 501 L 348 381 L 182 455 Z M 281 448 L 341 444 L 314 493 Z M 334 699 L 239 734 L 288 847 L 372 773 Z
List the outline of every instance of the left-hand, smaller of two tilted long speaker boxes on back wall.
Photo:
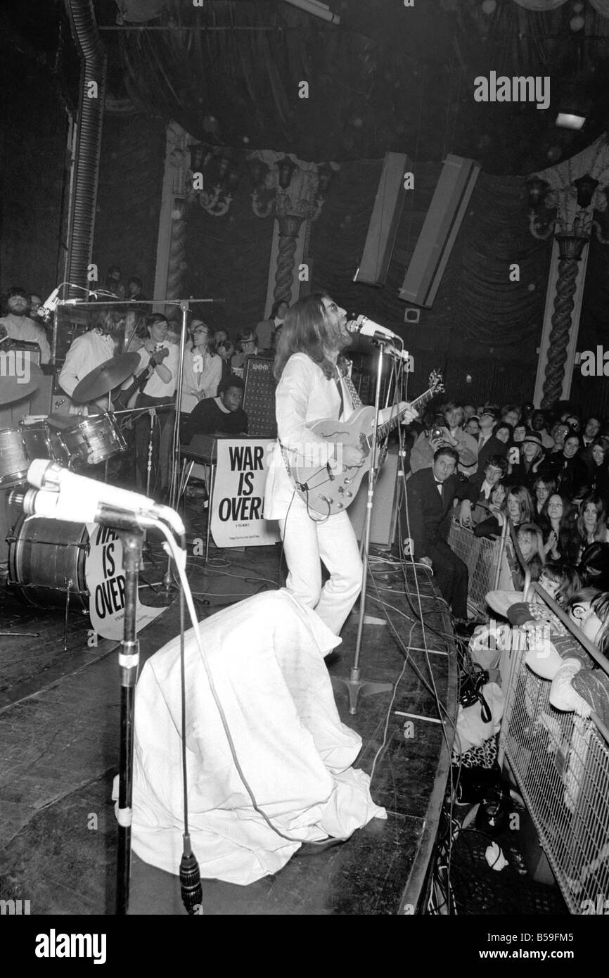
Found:
M 404 175 L 410 172 L 412 165 L 405 154 L 385 154 L 364 253 L 354 282 L 367 286 L 385 284 L 406 195 Z

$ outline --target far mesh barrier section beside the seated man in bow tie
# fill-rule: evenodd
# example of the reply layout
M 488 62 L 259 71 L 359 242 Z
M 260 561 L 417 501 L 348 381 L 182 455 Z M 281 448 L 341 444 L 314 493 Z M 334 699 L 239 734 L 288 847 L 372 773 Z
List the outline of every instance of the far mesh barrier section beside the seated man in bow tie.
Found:
M 505 556 L 507 521 L 499 514 L 501 535 L 497 540 L 476 537 L 473 532 L 453 521 L 448 543 L 451 549 L 467 565 L 469 584 L 468 608 L 474 614 L 486 612 L 486 596 L 489 591 L 513 590 L 511 573 Z

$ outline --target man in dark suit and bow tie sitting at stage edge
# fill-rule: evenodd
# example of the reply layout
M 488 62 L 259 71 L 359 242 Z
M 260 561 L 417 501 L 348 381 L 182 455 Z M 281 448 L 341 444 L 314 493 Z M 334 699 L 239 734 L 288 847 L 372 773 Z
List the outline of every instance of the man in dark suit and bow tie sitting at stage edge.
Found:
M 447 543 L 453 505 L 465 493 L 454 448 L 439 448 L 431 468 L 419 468 L 407 483 L 408 528 L 415 560 L 432 568 L 457 619 L 467 621 L 467 567 Z

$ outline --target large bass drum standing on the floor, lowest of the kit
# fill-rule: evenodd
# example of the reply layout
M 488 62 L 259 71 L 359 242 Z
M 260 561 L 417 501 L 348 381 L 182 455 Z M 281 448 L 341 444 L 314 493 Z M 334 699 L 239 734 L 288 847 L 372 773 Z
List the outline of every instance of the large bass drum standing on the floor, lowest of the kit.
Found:
M 69 607 L 88 611 L 86 526 L 22 514 L 8 542 L 8 583 L 24 601 L 37 607 L 65 607 L 67 590 Z

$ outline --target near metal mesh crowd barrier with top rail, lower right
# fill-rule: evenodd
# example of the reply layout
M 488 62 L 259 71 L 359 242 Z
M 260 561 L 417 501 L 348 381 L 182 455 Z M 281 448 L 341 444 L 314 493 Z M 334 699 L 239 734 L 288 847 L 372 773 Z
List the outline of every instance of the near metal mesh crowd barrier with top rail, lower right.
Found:
M 544 589 L 531 587 L 586 648 L 590 666 L 594 660 L 609 672 Z M 594 713 L 584 719 L 555 709 L 549 681 L 525 663 L 526 644 L 511 645 L 500 763 L 507 758 L 569 910 L 589 912 L 609 900 L 609 730 Z

